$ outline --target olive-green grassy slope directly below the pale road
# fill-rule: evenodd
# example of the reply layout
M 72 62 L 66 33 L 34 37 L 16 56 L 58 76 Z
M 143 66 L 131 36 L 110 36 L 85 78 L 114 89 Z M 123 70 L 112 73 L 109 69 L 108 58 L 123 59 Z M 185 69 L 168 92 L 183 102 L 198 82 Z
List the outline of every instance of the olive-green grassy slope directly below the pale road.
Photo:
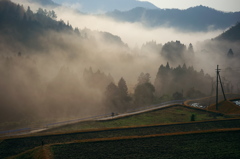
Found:
M 195 114 L 196 121 L 211 120 L 215 118 L 213 113 L 207 113 L 199 109 L 190 109 L 184 106 L 173 106 L 116 120 L 80 122 L 76 124 L 53 128 L 47 130 L 46 132 L 71 132 L 77 130 L 112 128 L 133 125 L 141 126 L 176 122 L 189 122 L 192 114 Z M 223 119 L 224 117 L 218 116 L 217 118 Z

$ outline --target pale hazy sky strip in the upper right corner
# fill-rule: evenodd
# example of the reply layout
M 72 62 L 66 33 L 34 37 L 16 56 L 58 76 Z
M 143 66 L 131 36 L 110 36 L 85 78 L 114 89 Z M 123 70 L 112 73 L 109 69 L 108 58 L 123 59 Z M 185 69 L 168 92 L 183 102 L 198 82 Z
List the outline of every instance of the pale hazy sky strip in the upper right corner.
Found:
M 149 1 L 159 8 L 186 9 L 197 5 L 208 6 L 221 11 L 240 11 L 240 0 L 140 0 Z

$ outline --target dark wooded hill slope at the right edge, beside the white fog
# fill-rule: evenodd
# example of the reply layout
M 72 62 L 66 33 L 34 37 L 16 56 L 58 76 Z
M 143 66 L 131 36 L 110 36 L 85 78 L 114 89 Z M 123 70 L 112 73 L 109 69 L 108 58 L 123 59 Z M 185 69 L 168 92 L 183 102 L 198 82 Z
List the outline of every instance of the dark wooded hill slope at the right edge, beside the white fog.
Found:
M 216 37 L 215 40 L 240 41 L 240 22 Z

